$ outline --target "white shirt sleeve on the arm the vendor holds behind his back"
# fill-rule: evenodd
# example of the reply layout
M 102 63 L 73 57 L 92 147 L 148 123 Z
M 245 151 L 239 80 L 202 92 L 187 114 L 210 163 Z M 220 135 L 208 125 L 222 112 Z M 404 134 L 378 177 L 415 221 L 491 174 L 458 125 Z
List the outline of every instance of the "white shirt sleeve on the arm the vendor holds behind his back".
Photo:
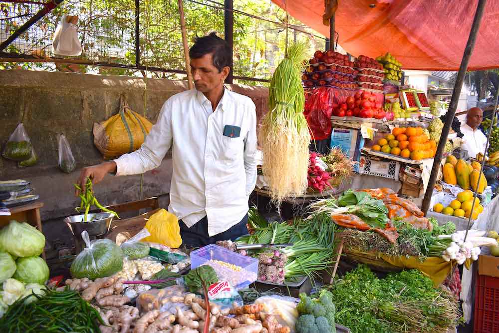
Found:
M 246 195 L 249 196 L 256 184 L 256 110 L 253 102 L 247 110 L 248 132 L 245 138 Z

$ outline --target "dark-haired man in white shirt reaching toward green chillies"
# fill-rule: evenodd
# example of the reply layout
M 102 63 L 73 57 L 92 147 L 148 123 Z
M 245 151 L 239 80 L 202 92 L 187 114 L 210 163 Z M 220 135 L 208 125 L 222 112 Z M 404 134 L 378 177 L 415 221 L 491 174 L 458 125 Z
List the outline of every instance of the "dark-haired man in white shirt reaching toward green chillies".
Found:
M 107 173 L 157 168 L 172 148 L 168 210 L 179 218 L 183 244 L 200 247 L 247 234 L 248 199 L 256 182 L 256 112 L 247 96 L 224 87 L 231 50 L 215 33 L 189 50 L 196 89 L 169 98 L 142 146 L 120 158 L 83 168 L 98 183 Z

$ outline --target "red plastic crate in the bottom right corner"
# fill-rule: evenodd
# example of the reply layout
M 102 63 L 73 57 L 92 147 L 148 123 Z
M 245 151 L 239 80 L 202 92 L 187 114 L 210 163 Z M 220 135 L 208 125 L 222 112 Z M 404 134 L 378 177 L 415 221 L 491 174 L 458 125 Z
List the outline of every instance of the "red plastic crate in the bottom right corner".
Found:
M 477 275 L 474 333 L 499 333 L 499 278 Z

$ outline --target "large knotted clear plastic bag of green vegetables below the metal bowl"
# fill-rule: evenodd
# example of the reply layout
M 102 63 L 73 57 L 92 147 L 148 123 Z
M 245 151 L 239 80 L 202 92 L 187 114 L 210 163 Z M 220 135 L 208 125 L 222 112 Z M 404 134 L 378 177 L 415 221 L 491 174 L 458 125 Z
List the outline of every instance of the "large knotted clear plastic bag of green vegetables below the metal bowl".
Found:
M 89 222 L 92 223 L 92 222 Z M 123 268 L 123 252 L 110 239 L 90 241 L 87 231 L 81 233 L 81 238 L 87 245 L 71 264 L 71 276 L 75 279 L 109 277 Z

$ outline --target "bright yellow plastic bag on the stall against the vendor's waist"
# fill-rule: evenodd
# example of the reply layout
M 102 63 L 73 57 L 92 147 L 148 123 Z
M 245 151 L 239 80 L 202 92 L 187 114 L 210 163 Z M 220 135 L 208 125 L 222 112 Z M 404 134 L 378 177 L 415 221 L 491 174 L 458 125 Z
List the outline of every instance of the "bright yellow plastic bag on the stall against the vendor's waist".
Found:
M 182 245 L 179 220 L 166 209 L 151 215 L 145 228 L 151 236 L 141 239 L 142 242 L 159 243 L 174 249 Z

